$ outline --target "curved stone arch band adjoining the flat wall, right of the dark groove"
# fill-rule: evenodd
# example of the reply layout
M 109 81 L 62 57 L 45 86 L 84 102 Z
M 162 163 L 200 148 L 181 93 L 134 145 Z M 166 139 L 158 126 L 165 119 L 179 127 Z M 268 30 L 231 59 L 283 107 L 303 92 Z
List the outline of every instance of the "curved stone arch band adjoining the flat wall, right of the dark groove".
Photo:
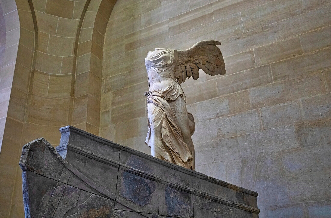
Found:
M 77 33 L 75 91 L 71 124 L 99 135 L 102 56 L 105 32 L 116 0 L 91 0 Z M 88 5 L 87 5 L 88 4 Z M 78 87 L 84 87 L 79 91 Z M 81 117 L 84 111 L 84 117 Z

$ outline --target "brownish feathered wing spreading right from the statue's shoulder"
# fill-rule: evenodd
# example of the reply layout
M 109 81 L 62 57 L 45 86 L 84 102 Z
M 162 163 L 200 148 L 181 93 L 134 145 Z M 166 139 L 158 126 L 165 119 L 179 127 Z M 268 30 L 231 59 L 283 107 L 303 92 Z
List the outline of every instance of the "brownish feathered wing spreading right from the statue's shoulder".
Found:
M 199 69 L 209 75 L 224 75 L 225 63 L 221 51 L 216 45 L 221 43 L 214 40 L 205 40 L 196 43 L 186 50 L 178 52 L 178 62 L 175 77 L 179 84 L 185 82 L 186 78 L 199 78 Z

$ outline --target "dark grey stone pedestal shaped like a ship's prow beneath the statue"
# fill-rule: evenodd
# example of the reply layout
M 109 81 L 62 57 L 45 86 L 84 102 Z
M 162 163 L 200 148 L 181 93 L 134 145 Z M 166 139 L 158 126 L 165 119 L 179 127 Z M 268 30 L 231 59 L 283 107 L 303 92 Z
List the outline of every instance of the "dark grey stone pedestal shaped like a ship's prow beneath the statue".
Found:
M 72 126 L 24 146 L 26 217 L 251 217 L 258 193 Z

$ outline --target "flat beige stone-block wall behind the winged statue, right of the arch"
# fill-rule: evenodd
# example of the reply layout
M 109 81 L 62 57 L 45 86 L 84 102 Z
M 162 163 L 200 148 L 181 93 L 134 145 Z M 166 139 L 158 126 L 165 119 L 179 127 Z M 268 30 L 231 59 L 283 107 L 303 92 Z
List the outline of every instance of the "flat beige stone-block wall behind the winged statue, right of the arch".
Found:
M 260 217 L 321 217 L 331 208 L 330 35 L 327 0 L 118 0 L 100 136 L 150 153 L 147 52 L 219 40 L 226 75 L 182 84 L 196 170 L 257 191 Z

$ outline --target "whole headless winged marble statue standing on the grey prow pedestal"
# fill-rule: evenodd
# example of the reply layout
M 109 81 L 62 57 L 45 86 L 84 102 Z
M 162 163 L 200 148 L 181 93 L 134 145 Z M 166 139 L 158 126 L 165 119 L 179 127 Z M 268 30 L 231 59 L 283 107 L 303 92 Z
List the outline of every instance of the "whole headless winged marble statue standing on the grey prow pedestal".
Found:
M 145 143 L 152 156 L 194 170 L 191 136 L 195 124 L 187 112 L 186 97 L 180 84 L 186 78 L 199 78 L 199 69 L 209 75 L 224 75 L 221 51 L 213 40 L 201 41 L 187 50 L 157 48 L 148 52 L 148 133 Z

